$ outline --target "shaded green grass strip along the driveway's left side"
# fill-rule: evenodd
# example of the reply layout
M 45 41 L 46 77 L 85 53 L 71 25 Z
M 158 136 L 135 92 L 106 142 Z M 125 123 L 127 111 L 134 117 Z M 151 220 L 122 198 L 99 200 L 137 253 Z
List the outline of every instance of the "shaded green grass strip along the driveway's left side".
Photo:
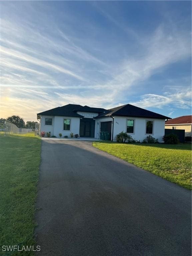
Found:
M 0 134 L 0 246 L 35 245 L 34 214 L 41 139 Z M 33 255 L 33 252 L 0 255 Z

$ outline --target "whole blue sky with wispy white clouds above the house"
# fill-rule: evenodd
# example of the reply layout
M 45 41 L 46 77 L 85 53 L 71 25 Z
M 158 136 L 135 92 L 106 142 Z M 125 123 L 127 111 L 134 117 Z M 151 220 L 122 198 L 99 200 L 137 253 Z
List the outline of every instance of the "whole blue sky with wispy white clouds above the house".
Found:
M 190 1 L 1 1 L 1 116 L 81 104 L 191 114 Z

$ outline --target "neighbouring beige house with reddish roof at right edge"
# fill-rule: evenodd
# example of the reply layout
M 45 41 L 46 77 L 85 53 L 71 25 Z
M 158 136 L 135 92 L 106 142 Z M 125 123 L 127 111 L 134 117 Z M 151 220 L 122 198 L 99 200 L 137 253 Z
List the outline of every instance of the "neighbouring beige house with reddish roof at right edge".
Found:
M 185 130 L 185 137 L 192 135 L 192 116 L 180 116 L 165 122 L 166 129 Z

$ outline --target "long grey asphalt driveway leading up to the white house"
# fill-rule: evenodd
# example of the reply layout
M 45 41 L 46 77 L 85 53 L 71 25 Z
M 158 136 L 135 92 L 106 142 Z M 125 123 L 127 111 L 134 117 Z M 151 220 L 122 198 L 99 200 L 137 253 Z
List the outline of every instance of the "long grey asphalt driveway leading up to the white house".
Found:
M 42 140 L 42 256 L 191 256 L 191 192 L 92 147 Z

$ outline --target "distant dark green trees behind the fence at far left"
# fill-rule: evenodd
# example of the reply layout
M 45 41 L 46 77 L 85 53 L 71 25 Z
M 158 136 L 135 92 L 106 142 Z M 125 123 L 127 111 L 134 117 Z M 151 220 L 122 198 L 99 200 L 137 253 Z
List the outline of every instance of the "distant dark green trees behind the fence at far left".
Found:
M 9 123 L 15 124 L 18 128 L 28 128 L 28 129 L 35 129 L 35 124 L 38 124 L 38 122 L 34 122 L 34 121 L 27 121 L 25 124 L 23 118 L 13 115 L 13 116 L 7 117 L 7 119 L 0 118 L 0 129 L 4 128 L 4 123 L 6 121 Z

